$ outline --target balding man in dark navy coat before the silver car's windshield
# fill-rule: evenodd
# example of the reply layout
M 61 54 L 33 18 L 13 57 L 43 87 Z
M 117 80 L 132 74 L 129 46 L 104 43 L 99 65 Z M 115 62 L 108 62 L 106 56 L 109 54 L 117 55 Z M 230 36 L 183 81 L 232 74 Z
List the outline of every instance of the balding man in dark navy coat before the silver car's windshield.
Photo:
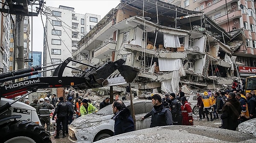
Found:
M 113 108 L 113 120 L 114 135 L 123 134 L 126 132 L 134 131 L 134 120 L 131 118 L 130 110 L 125 106 L 121 100 L 116 100 L 112 104 Z

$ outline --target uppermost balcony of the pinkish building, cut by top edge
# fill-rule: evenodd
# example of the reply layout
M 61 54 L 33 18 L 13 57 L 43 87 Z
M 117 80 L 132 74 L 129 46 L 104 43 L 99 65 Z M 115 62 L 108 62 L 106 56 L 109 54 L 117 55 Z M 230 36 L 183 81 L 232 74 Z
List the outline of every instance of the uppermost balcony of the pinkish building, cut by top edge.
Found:
M 227 0 L 227 6 L 230 6 L 231 3 L 238 2 L 239 0 Z M 215 3 L 212 3 L 211 6 L 207 6 L 201 11 L 204 11 L 204 14 L 210 15 L 215 11 L 220 11 L 221 9 L 226 7 L 225 0 L 216 0 Z

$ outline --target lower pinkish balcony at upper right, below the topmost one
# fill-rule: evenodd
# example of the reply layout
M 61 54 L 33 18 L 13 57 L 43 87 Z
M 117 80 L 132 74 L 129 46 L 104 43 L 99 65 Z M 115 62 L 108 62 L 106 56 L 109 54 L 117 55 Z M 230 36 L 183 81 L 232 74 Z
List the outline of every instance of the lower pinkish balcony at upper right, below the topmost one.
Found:
M 234 19 L 242 17 L 241 9 L 235 9 L 228 11 L 229 22 L 233 22 Z M 227 23 L 227 14 L 222 14 L 218 18 L 213 20 L 218 25 L 223 25 Z

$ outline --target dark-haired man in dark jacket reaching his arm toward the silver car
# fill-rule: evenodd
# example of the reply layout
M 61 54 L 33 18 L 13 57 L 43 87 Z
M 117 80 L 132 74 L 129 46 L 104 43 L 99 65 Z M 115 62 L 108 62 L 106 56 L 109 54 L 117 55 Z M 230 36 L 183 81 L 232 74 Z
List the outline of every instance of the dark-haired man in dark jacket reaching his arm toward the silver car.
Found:
M 167 126 L 172 125 L 172 112 L 169 109 L 169 106 L 164 107 L 161 102 L 161 96 L 159 94 L 154 94 L 151 97 L 153 109 L 147 115 L 142 117 L 141 119 L 144 120 L 151 116 L 151 123 L 150 127 L 155 126 Z

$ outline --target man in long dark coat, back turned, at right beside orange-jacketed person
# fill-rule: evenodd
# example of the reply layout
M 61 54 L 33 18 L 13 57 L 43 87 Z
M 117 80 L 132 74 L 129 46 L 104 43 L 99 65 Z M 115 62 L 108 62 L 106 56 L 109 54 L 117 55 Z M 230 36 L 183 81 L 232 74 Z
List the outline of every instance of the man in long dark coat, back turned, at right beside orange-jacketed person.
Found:
M 222 128 L 235 131 L 239 124 L 238 118 L 241 113 L 241 105 L 236 99 L 236 93 L 228 94 L 228 100 L 225 102 L 222 112 Z

